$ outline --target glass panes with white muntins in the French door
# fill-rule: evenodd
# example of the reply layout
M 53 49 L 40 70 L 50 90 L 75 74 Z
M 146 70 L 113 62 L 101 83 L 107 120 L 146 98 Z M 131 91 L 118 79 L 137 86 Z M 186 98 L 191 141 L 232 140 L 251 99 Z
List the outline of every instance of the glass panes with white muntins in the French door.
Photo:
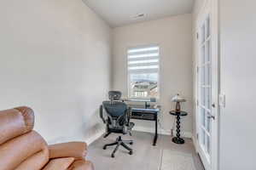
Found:
M 203 21 L 200 30 L 200 59 L 199 59 L 199 147 L 205 167 L 211 166 L 212 139 L 212 54 L 211 54 L 211 18 Z

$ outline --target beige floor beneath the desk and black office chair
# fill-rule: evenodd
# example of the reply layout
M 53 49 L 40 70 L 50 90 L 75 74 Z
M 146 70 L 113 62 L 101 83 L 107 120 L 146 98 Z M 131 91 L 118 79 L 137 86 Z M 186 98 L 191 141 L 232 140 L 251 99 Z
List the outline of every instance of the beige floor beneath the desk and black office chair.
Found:
M 154 134 L 133 131 L 132 136 L 123 136 L 123 139 L 134 140 L 131 145 L 133 155 L 130 156 L 127 150 L 120 147 L 115 158 L 112 158 L 114 146 L 107 150 L 102 150 L 102 147 L 113 142 L 117 136 L 101 137 L 89 145 L 87 158 L 94 162 L 96 170 L 203 170 L 191 139 L 185 139 L 185 144 L 174 144 L 171 136 L 159 135 L 157 145 L 153 146 Z M 193 163 L 191 159 L 195 162 L 194 169 L 189 166 Z M 183 164 L 186 167 L 179 167 Z

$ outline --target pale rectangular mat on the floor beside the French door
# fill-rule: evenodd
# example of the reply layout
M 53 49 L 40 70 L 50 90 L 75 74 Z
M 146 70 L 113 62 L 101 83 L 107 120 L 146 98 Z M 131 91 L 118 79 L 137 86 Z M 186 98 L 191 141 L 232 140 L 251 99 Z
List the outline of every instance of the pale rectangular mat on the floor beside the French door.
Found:
M 195 170 L 192 154 L 163 150 L 160 170 Z

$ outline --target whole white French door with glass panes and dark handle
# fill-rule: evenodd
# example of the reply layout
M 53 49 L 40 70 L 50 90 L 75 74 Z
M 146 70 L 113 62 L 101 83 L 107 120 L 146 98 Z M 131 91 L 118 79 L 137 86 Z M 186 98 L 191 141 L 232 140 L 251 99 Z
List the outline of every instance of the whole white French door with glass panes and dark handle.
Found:
M 212 3 L 207 3 L 198 21 L 196 108 L 197 151 L 206 170 L 218 169 L 218 29 L 214 27 L 215 20 Z

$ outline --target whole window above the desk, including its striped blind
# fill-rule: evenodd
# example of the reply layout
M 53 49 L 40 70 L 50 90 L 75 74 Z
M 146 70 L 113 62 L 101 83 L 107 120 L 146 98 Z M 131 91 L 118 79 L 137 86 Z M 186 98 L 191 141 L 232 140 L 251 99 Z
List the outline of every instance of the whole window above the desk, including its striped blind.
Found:
M 159 47 L 130 48 L 127 58 L 129 98 L 158 98 Z

